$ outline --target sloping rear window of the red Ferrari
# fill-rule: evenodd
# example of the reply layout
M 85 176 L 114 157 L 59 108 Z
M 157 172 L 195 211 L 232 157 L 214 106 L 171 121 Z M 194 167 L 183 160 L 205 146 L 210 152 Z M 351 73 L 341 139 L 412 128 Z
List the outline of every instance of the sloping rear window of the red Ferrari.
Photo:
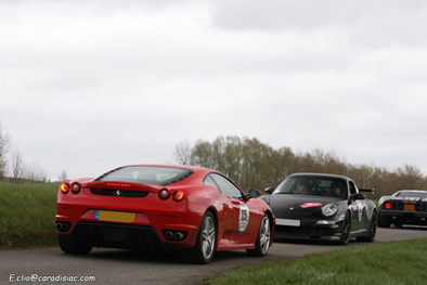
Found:
M 190 177 L 193 171 L 173 167 L 129 166 L 107 172 L 96 181 L 124 181 L 148 185 L 168 185 Z

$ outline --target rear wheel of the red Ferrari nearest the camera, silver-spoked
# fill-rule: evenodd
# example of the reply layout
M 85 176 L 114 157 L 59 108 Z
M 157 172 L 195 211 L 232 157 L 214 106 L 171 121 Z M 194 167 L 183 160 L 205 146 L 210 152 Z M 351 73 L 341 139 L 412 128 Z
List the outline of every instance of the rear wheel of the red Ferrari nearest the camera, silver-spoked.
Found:
M 183 252 L 184 260 L 190 263 L 207 264 L 215 254 L 217 226 L 214 215 L 208 211 L 202 220 L 197 233 L 196 246 Z

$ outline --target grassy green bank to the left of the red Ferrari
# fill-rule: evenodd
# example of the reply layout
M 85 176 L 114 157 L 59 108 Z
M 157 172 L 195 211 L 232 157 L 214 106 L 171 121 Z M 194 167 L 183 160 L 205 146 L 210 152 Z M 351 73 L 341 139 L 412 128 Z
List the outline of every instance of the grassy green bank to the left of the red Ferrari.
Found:
M 0 182 L 0 249 L 57 246 L 57 184 Z

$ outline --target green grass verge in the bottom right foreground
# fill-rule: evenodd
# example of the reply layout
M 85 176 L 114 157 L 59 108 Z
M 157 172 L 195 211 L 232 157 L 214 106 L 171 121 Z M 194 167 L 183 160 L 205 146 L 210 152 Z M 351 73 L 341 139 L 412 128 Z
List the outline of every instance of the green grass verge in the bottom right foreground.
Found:
M 353 246 L 222 272 L 204 285 L 426 284 L 427 238 Z

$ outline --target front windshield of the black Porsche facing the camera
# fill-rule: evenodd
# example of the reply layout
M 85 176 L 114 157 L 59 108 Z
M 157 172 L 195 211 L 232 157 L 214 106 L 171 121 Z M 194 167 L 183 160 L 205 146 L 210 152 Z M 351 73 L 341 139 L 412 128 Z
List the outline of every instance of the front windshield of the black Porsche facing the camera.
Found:
M 345 198 L 347 182 L 328 177 L 288 177 L 274 191 L 274 194 L 322 195 Z

